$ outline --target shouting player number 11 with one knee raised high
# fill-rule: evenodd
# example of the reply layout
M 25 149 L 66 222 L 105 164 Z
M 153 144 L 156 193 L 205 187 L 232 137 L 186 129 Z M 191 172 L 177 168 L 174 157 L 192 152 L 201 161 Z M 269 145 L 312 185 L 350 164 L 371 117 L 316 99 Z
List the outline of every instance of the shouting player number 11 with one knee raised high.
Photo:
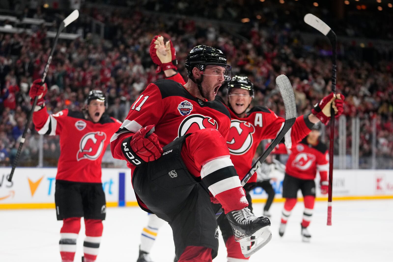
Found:
M 132 104 L 111 138 L 114 158 L 127 160 L 140 207 L 171 225 L 178 261 L 212 261 L 218 228 L 209 193 L 222 205 L 236 240 L 270 238 L 268 218 L 247 208 L 245 192 L 230 159 L 226 138 L 230 115 L 215 99 L 230 80 L 231 67 L 219 49 L 196 46 L 187 55 L 184 86 L 156 81 Z

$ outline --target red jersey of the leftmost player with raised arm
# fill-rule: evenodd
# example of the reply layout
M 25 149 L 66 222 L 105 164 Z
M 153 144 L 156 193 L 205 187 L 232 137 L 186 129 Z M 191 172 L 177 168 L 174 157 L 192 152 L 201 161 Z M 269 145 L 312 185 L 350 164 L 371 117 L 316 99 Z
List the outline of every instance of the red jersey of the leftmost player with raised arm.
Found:
M 103 114 L 93 123 L 82 112 L 64 109 L 50 115 L 44 107 L 33 113 L 33 123 L 39 134 L 60 136 L 57 180 L 101 183 L 102 157 L 120 121 Z

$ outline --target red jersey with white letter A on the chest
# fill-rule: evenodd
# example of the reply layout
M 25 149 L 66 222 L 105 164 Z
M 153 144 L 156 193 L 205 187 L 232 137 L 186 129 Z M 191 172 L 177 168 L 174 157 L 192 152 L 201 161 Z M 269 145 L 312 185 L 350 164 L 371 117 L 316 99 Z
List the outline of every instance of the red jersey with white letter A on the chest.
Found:
M 285 119 L 278 117 L 272 110 L 264 106 L 253 107 L 244 118 L 237 117 L 232 110 L 231 128 L 227 145 L 231 153 L 231 160 L 239 178 L 242 179 L 251 169 L 252 159 L 259 143 L 263 139 L 274 139 L 284 125 Z M 308 115 L 296 118 L 292 128 L 285 135 L 285 144 L 288 148 L 292 143 L 298 143 L 310 133 L 312 124 Z M 256 182 L 254 174 L 248 183 Z

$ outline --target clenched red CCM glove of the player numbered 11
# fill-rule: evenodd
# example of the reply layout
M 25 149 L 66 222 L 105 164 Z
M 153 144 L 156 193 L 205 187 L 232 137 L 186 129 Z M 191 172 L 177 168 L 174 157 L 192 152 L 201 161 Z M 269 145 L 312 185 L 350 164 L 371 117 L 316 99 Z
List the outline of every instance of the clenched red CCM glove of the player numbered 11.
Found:
M 163 153 L 158 136 L 153 132 L 154 125 L 146 126 L 138 130 L 130 141 L 131 149 L 145 162 L 154 161 Z

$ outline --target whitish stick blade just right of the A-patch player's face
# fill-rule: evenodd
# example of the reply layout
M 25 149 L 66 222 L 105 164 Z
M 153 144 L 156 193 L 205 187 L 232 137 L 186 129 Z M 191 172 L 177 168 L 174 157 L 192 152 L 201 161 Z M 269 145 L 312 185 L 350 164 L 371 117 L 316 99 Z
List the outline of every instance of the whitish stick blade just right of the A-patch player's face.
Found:
M 291 82 L 286 75 L 279 75 L 275 83 L 284 101 L 285 119 L 296 118 L 296 100 Z

